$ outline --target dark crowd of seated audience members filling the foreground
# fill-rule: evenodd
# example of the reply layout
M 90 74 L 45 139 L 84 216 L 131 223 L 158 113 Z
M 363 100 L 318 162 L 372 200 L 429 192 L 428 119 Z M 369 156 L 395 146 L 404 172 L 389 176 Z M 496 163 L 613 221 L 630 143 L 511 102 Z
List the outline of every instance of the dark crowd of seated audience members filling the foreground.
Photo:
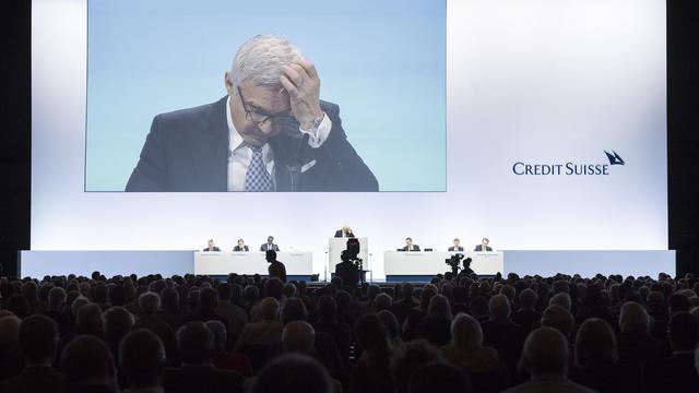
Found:
M 697 291 L 665 275 L 2 277 L 0 392 L 691 391 Z

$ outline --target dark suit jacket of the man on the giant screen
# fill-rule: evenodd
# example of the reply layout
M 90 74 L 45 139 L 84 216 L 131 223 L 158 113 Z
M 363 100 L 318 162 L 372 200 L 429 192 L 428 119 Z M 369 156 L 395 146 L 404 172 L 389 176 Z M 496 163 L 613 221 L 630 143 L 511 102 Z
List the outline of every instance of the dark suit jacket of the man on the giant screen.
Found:
M 157 115 L 126 191 L 227 191 L 228 124 L 226 98 L 196 108 Z M 371 170 L 347 141 L 340 107 L 321 102 L 332 129 L 321 147 L 303 146 L 301 164 L 316 164 L 300 174 L 297 191 L 378 191 Z M 274 152 L 276 191 L 293 191 L 288 166 L 303 134 L 298 122 L 284 124 L 269 140 Z

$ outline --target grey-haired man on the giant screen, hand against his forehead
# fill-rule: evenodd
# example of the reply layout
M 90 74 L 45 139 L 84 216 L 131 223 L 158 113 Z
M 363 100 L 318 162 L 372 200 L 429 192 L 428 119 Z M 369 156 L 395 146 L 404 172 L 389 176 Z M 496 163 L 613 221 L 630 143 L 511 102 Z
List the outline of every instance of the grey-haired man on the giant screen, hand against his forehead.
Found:
M 126 191 L 378 191 L 340 107 L 320 100 L 316 68 L 284 37 L 240 46 L 225 86 L 153 119 Z

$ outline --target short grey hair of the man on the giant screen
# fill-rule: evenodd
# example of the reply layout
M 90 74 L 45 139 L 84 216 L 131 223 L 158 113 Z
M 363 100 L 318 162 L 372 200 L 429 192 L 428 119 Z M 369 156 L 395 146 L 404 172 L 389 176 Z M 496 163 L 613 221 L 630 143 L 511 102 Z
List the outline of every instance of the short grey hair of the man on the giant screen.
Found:
M 250 81 L 256 86 L 281 88 L 282 66 L 300 59 L 300 50 L 281 35 L 257 35 L 238 48 L 233 59 L 229 82 L 239 86 L 240 83 Z

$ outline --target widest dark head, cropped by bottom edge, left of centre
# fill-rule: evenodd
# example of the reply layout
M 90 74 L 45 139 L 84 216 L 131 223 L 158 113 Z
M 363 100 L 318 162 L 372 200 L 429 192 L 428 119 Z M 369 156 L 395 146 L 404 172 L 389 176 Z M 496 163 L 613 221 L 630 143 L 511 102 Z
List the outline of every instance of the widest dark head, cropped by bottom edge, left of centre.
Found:
M 330 393 L 332 383 L 325 368 L 310 356 L 285 354 L 272 360 L 252 384 L 252 393 Z

